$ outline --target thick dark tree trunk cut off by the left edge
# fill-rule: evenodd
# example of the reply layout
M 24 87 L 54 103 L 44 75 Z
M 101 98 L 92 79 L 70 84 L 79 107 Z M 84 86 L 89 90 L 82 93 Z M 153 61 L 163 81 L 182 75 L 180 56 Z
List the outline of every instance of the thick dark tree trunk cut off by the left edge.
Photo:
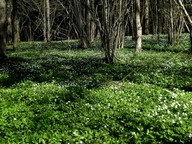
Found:
M 0 58 L 6 58 L 6 2 L 0 1 Z

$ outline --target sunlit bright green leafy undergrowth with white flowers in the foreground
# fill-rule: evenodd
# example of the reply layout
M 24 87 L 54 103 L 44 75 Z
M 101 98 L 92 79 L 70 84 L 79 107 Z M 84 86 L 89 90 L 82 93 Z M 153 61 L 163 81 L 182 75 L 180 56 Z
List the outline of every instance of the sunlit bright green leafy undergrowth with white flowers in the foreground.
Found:
M 1 89 L 1 143 L 190 143 L 191 93 L 26 81 Z

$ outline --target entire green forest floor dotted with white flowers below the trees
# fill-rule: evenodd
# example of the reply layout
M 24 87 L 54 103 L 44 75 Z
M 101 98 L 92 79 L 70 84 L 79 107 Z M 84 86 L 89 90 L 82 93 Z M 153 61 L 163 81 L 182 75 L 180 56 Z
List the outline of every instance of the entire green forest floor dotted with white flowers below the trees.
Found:
M 0 143 L 192 143 L 192 56 L 128 37 L 106 64 L 98 42 L 22 42 L 0 63 Z

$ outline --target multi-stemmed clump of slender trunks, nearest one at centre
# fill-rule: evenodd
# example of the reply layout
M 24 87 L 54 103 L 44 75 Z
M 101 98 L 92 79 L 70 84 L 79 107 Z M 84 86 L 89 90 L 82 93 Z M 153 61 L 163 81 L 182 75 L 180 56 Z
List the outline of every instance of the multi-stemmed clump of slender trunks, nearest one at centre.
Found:
M 124 13 L 126 3 L 123 1 L 102 0 L 101 14 L 99 15 L 99 28 L 102 48 L 107 63 L 114 63 L 115 51 L 124 44 Z

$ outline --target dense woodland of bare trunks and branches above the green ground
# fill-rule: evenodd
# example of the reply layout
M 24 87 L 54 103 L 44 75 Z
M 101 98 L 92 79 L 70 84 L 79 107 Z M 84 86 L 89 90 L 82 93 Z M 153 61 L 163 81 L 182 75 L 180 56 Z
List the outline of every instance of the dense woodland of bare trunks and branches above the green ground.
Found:
M 131 35 L 136 52 L 142 49 L 142 34 L 168 34 L 168 44 L 176 45 L 182 33 L 190 33 L 191 0 L 7 0 L 7 43 L 16 49 L 19 41 L 61 41 L 79 39 L 88 47 L 100 38 L 105 59 L 113 63 L 115 49 L 124 47 Z

